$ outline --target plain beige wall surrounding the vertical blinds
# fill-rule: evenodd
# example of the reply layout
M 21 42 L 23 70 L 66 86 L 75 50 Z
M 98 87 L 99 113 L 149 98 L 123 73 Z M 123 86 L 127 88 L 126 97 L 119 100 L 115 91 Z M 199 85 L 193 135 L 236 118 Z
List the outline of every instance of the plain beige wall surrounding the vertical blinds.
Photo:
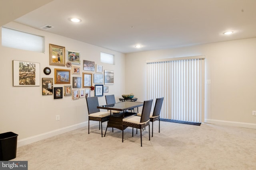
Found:
M 251 38 L 128 54 L 126 93 L 146 100 L 147 60 L 205 55 L 205 122 L 256 128 L 255 47 Z

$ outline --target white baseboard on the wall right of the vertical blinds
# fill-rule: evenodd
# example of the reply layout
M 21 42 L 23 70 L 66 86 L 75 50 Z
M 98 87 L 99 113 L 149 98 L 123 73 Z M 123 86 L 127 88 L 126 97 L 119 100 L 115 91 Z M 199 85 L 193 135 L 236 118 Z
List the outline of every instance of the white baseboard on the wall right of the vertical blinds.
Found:
M 234 126 L 234 127 L 245 127 L 245 128 L 250 128 L 250 129 L 256 129 L 255 123 L 223 121 L 223 120 L 215 120 L 215 119 L 204 119 L 204 123 L 212 123 L 212 124 L 216 124 L 216 125 L 227 125 L 227 126 Z

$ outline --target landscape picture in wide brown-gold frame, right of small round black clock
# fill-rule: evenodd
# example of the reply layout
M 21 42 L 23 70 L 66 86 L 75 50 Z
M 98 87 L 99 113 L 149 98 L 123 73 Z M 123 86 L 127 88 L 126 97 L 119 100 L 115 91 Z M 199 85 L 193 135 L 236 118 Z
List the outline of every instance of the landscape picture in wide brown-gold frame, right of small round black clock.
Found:
M 55 84 L 70 84 L 70 70 L 54 68 Z

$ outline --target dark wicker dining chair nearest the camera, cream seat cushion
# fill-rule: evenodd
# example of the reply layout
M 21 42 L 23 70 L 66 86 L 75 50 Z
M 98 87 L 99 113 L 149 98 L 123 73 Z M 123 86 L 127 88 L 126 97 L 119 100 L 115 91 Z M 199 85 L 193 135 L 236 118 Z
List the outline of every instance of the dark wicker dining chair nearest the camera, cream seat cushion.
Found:
M 150 141 L 150 123 L 149 116 L 152 107 L 153 99 L 146 100 L 143 103 L 141 116 L 132 115 L 123 119 L 122 123 L 122 142 L 124 142 L 124 127 L 132 127 L 132 136 L 133 136 L 133 128 L 140 129 L 140 145 L 142 147 L 142 131 L 144 127 L 148 126 L 148 134 Z

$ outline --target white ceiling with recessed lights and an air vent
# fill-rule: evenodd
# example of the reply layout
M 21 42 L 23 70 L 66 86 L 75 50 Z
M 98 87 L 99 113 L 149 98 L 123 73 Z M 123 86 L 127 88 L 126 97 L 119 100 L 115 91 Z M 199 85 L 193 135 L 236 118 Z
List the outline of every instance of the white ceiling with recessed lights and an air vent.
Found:
M 256 0 L 53 0 L 14 21 L 134 53 L 256 37 Z

